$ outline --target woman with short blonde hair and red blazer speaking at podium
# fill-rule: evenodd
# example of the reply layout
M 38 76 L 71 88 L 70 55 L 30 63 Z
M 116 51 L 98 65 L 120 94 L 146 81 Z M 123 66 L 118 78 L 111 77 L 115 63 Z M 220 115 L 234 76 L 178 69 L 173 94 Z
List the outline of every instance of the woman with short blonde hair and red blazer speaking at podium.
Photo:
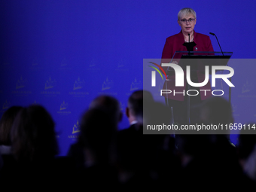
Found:
M 166 38 L 166 44 L 163 47 L 161 63 L 170 62 L 175 51 L 213 51 L 212 42 L 208 35 L 203 35 L 194 31 L 194 26 L 197 23 L 197 14 L 191 8 L 183 8 L 178 12 L 178 25 L 181 26 L 181 32 Z M 177 62 L 175 62 L 178 64 Z M 167 68 L 165 68 L 167 69 Z M 175 123 L 187 122 L 187 80 L 186 72 L 184 72 L 184 87 L 175 87 L 175 74 L 169 75 L 168 79 L 163 84 L 163 90 L 172 90 L 172 93 L 163 94 L 166 99 L 166 105 L 172 107 Z M 203 82 L 205 75 L 197 72 L 197 82 Z M 191 80 L 192 81 L 192 80 Z M 175 93 L 173 94 L 173 90 Z M 190 87 L 190 90 L 197 90 L 197 96 L 190 96 L 190 123 L 195 123 L 198 120 L 198 109 L 194 109 L 195 105 L 200 104 L 204 99 L 212 96 L 211 84 L 208 83 L 203 87 Z M 200 91 L 202 90 L 202 91 Z M 182 93 L 184 92 L 184 94 Z M 191 92 L 190 94 L 195 94 Z

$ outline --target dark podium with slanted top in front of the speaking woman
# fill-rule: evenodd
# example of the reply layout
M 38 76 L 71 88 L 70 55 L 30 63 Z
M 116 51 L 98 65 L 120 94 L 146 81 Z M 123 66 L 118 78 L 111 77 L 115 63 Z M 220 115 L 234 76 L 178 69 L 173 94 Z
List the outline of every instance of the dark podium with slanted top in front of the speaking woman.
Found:
M 176 51 L 172 56 L 170 63 L 175 63 L 186 71 L 187 66 L 190 66 L 190 80 L 198 81 L 198 74 L 205 74 L 206 66 L 209 66 L 209 75 L 212 75 L 212 66 L 227 66 L 227 62 L 233 52 L 209 52 L 209 51 Z M 223 70 L 219 70 L 223 71 Z M 168 67 L 166 75 L 175 75 L 175 70 Z M 231 82 L 231 78 L 229 78 Z M 166 79 L 168 81 L 168 79 Z M 209 80 L 208 80 L 209 81 Z M 187 89 L 190 90 L 190 84 L 187 84 Z M 168 87 L 166 87 L 166 90 Z M 168 100 L 168 99 L 167 99 Z M 229 102 L 231 102 L 231 87 L 229 88 Z M 167 102 L 169 105 L 169 102 Z M 190 96 L 187 95 L 187 122 L 190 123 Z

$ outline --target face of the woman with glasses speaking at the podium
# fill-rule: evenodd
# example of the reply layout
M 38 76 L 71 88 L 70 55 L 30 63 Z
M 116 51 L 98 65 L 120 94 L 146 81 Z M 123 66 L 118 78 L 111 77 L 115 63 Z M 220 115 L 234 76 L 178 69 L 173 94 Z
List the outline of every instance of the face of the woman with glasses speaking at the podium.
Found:
M 178 20 L 178 25 L 181 26 L 181 30 L 185 34 L 191 34 L 194 31 L 194 26 L 196 25 L 196 23 L 197 19 L 194 17 L 193 14 L 187 14 L 186 16 L 183 16 Z

